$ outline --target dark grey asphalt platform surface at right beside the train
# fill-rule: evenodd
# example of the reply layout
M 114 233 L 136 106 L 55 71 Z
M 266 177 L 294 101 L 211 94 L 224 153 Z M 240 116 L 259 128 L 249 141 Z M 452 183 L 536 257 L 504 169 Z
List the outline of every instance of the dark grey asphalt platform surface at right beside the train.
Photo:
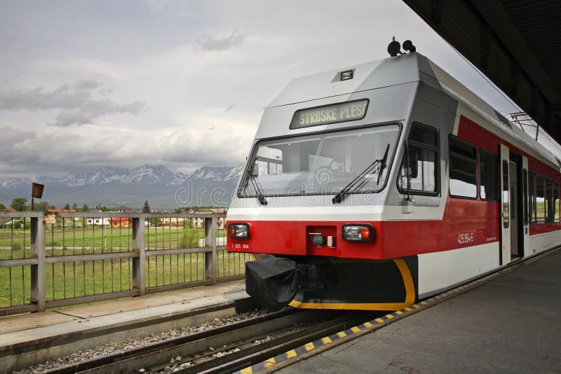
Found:
M 278 373 L 561 373 L 561 250 Z

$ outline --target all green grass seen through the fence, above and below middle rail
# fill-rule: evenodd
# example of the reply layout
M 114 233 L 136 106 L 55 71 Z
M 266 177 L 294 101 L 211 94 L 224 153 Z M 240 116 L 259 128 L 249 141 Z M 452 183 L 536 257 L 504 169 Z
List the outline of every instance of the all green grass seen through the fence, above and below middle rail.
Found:
M 224 237 L 224 230 L 217 230 Z M 177 249 L 201 247 L 204 230 L 201 228 L 145 228 L 145 248 Z M 46 232 L 46 256 L 127 252 L 132 250 L 130 228 L 89 226 L 54 228 Z M 219 240 L 219 243 L 221 241 Z M 0 260 L 29 258 L 29 229 L 0 229 Z M 241 275 L 245 270 L 244 254 L 219 251 L 218 277 Z M 181 284 L 205 279 L 205 254 L 169 254 L 147 256 L 145 263 L 147 287 Z M 30 267 L 0 268 L 0 307 L 25 305 L 30 297 Z M 130 258 L 96 261 L 75 261 L 46 265 L 46 298 L 60 300 L 99 293 L 132 289 L 132 260 Z

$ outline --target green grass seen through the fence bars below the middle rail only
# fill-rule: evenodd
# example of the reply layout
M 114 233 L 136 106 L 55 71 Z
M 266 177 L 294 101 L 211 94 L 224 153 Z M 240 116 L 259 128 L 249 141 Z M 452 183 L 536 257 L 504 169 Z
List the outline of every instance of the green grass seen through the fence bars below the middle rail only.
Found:
M 218 277 L 243 274 L 248 260 L 247 254 L 218 251 Z M 130 290 L 132 268 L 130 258 L 47 264 L 46 299 Z M 147 287 L 204 280 L 205 254 L 147 256 L 144 271 Z M 29 265 L 0 268 L 0 307 L 29 303 L 30 279 Z

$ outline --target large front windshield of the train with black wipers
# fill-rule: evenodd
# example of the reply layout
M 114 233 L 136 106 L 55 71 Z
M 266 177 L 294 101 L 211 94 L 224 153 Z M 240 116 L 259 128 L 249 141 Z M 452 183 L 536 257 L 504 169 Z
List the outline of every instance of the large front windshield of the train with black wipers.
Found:
M 388 150 L 387 164 L 398 141 L 398 125 L 302 135 L 260 141 L 250 160 L 241 197 L 329 195 L 361 179 L 352 192 L 378 192 L 389 168 L 378 167 L 360 176 Z

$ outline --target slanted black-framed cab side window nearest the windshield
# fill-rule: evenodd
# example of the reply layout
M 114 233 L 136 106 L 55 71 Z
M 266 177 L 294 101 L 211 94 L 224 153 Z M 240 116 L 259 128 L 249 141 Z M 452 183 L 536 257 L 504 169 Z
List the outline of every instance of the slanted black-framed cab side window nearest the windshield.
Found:
M 414 123 L 401 165 L 398 188 L 414 195 L 438 194 L 438 132 Z

